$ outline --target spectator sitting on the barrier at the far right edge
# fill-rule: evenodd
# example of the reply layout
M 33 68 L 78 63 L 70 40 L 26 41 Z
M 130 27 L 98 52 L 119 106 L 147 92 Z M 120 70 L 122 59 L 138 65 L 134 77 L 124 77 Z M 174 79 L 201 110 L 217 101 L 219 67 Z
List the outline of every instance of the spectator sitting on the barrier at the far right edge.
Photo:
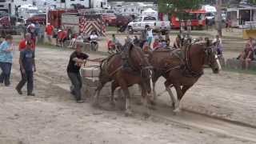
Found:
M 249 43 L 246 44 L 245 50 L 238 57 L 242 62 L 242 69 L 248 70 L 249 64 L 254 60 L 254 50 Z

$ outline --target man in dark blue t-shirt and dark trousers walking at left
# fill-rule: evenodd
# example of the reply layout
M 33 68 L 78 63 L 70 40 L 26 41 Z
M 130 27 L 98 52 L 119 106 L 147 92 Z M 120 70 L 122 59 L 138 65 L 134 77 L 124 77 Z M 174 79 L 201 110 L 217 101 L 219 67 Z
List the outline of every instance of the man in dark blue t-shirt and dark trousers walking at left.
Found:
M 28 96 L 34 96 L 33 92 L 33 73 L 36 71 L 35 69 L 35 63 L 34 63 L 34 50 L 33 50 L 33 44 L 32 41 L 26 42 L 26 49 L 22 50 L 20 52 L 20 69 L 22 73 L 22 80 L 18 83 L 18 86 L 16 86 L 16 90 L 18 91 L 18 94 L 22 94 L 22 87 L 27 82 L 27 95 Z

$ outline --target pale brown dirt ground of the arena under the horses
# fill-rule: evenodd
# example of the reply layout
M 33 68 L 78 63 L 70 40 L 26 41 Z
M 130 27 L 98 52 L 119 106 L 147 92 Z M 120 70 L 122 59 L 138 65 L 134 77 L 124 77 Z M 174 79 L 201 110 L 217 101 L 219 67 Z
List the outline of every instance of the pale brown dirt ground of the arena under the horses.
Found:
M 137 105 L 133 105 L 134 116 L 127 118 L 122 110 L 95 109 L 90 102 L 74 102 L 66 76 L 71 52 L 38 47 L 38 71 L 34 74 L 36 97 L 20 96 L 14 90 L 20 80 L 18 51 L 14 53 L 12 85 L 0 87 L 0 144 L 256 143 L 254 75 L 228 71 L 212 74 L 205 70 L 185 95 L 181 114 L 172 113 L 168 106 L 170 98 L 164 93 L 158 97 L 150 118 L 145 118 L 143 107 Z M 232 58 L 238 52 L 225 54 Z M 90 54 L 90 58 L 102 57 L 105 56 Z M 163 82 L 163 79 L 158 81 L 159 94 Z

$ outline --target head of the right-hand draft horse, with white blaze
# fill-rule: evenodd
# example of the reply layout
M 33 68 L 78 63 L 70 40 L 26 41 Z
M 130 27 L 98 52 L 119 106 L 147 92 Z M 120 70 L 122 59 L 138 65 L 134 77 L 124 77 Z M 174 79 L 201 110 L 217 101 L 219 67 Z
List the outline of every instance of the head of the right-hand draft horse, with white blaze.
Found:
M 214 46 L 210 44 L 210 42 L 206 42 L 205 45 L 205 65 L 210 66 L 213 70 L 214 74 L 218 74 L 220 70 L 222 70 L 222 66 L 220 65 L 217 51 L 214 49 Z

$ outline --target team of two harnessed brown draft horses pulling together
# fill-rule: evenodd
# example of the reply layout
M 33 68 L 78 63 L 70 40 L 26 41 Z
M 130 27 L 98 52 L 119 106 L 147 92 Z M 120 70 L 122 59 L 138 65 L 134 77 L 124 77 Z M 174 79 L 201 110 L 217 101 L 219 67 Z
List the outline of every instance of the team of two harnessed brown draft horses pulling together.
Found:
M 221 70 L 217 53 L 218 50 L 215 50 L 214 43 L 209 39 L 193 43 L 184 41 L 180 49 L 158 46 L 150 50 L 142 49 L 127 38 L 120 53 L 112 54 L 101 62 L 94 106 L 99 105 L 100 91 L 107 82 L 111 82 L 111 106 L 115 106 L 117 100 L 114 90 L 118 87 L 122 89 L 125 96 L 125 114 L 132 114 L 128 87 L 134 84 L 138 84 L 142 90 L 142 104 L 146 108 L 154 106 L 157 98 L 156 82 L 163 77 L 166 79 L 164 85 L 170 95 L 174 112 L 178 112 L 183 95 L 202 76 L 204 67 L 209 66 L 214 74 Z M 171 87 L 176 90 L 177 97 L 172 93 Z

